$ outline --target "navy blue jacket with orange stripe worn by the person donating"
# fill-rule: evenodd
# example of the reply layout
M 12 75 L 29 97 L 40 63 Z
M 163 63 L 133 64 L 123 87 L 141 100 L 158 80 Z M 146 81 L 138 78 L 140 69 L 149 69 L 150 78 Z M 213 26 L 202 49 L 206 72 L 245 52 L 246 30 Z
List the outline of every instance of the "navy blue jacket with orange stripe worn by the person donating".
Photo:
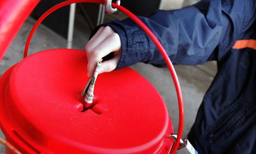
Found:
M 202 0 L 140 19 L 161 41 L 174 64 L 216 60 L 218 72 L 188 135 L 199 154 L 256 153 L 256 51 L 232 48 L 256 39 L 255 0 Z M 155 44 L 131 19 L 106 23 L 120 36 L 117 68 L 138 62 L 166 67 Z

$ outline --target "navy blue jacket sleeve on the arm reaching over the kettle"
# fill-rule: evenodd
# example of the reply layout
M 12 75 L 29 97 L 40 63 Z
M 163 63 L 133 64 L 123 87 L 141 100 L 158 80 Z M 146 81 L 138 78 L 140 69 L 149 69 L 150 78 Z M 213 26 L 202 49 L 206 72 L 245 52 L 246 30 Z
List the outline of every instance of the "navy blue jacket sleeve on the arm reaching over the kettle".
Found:
M 196 65 L 225 58 L 254 11 L 254 0 L 202 0 L 183 9 L 157 10 L 150 17 L 139 18 L 163 44 L 173 64 Z M 138 62 L 166 67 L 155 44 L 130 18 L 104 25 L 111 26 L 121 39 L 117 69 Z

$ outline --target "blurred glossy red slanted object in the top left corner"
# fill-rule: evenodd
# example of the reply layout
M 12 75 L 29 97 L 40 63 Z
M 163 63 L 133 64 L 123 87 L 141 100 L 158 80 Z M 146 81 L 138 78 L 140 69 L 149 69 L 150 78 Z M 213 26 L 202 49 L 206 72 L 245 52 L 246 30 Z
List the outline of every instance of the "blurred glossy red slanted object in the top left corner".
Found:
M 0 62 L 12 39 L 40 0 L 0 0 Z

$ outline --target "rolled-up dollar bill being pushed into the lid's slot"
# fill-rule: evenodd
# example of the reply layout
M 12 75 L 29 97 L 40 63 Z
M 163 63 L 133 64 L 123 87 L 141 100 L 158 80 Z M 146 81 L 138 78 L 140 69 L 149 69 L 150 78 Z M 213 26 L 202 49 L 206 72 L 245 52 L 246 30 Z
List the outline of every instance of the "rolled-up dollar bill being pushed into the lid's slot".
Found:
M 95 85 L 97 76 L 99 74 L 99 70 L 100 70 L 101 65 L 102 65 L 102 59 L 99 62 L 97 62 L 97 66 L 95 68 L 93 76 L 88 80 L 85 88 L 83 89 L 83 92 L 81 93 L 81 96 L 85 95 L 85 102 L 86 103 L 92 103 L 92 101 L 93 101 L 94 85 Z

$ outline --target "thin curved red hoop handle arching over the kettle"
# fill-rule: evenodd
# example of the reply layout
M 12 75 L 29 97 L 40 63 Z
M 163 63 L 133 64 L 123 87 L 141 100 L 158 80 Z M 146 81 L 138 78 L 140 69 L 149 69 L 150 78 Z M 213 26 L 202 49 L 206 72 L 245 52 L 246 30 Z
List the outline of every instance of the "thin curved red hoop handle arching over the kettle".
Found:
M 57 10 L 61 7 L 64 7 L 66 5 L 70 5 L 72 3 L 85 3 L 85 2 L 87 2 L 87 3 L 100 3 L 100 4 L 105 3 L 104 0 L 68 0 L 68 1 L 65 1 L 65 2 L 62 2 L 62 3 L 59 3 L 59 4 L 55 5 L 54 7 L 52 7 L 51 9 L 49 9 L 47 12 L 45 12 L 38 19 L 38 21 L 35 23 L 35 25 L 31 29 L 31 32 L 29 33 L 29 36 L 28 36 L 28 39 L 27 39 L 27 42 L 26 42 L 23 58 L 27 57 L 29 43 L 31 41 L 31 38 L 32 38 L 33 34 L 35 33 L 36 28 L 43 21 L 43 19 L 45 19 L 45 17 L 47 17 L 49 14 L 51 14 L 55 10 Z M 171 63 L 171 60 L 170 60 L 169 56 L 167 55 L 166 51 L 164 50 L 162 44 L 159 42 L 159 40 L 156 38 L 156 36 L 152 33 L 152 31 L 150 31 L 150 29 L 140 19 L 138 19 L 138 17 L 136 17 L 134 14 L 132 14 L 130 11 L 128 11 L 124 7 L 122 7 L 120 5 L 117 5 L 115 3 L 112 3 L 112 7 L 120 10 L 121 12 L 126 14 L 128 17 L 130 17 L 135 23 L 138 24 L 138 26 L 140 26 L 145 31 L 145 33 L 147 33 L 149 35 L 149 37 L 152 39 L 152 41 L 156 44 L 158 50 L 160 51 L 161 55 L 164 58 L 164 61 L 166 62 L 167 66 L 169 68 L 169 71 L 170 71 L 171 76 L 173 78 L 173 82 L 175 84 L 176 94 L 177 94 L 177 97 L 178 97 L 178 106 L 179 106 L 179 127 L 178 127 L 178 133 L 177 133 L 178 137 L 177 137 L 177 140 L 174 143 L 173 148 L 171 150 L 171 154 L 175 154 L 175 152 L 178 149 L 178 146 L 180 144 L 180 142 L 178 142 L 178 141 L 182 137 L 183 123 L 184 123 L 184 109 L 183 109 L 182 92 L 181 92 L 180 84 L 179 84 L 178 77 L 176 75 L 175 69 L 173 67 L 173 64 Z

